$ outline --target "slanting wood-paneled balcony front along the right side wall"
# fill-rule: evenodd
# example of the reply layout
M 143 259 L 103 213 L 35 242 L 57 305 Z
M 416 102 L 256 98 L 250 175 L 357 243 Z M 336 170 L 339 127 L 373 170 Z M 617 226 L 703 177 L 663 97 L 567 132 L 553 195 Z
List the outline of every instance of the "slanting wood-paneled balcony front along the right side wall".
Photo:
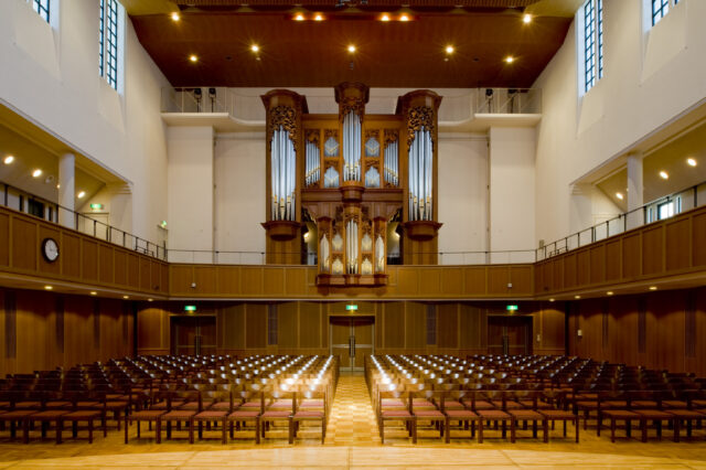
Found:
M 548 296 L 662 284 L 671 276 L 678 276 L 676 282 L 703 280 L 704 270 L 706 206 L 700 206 L 539 261 L 534 284 L 538 296 Z

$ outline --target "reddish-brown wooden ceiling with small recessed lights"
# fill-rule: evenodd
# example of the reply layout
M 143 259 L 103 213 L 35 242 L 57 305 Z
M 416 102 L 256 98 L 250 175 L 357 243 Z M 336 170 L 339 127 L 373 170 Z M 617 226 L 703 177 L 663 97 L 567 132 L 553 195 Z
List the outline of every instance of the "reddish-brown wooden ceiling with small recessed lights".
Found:
M 571 22 L 538 15 L 524 23 L 524 7 L 534 0 L 407 0 L 405 9 L 391 0 L 343 9 L 332 0 L 297 8 L 280 0 L 248 7 L 171 1 L 181 10 L 179 21 L 165 13 L 130 18 L 173 86 L 329 87 L 356 81 L 373 87 L 528 87 Z M 309 20 L 315 12 L 324 20 Z M 393 21 L 379 21 L 382 12 Z M 411 21 L 395 21 L 403 12 Z M 295 21 L 297 13 L 308 20 Z M 253 44 L 259 53 L 250 51 Z M 449 44 L 454 52 L 447 55 Z M 189 61 L 192 54 L 197 62 Z M 511 64 L 504 62 L 509 55 Z

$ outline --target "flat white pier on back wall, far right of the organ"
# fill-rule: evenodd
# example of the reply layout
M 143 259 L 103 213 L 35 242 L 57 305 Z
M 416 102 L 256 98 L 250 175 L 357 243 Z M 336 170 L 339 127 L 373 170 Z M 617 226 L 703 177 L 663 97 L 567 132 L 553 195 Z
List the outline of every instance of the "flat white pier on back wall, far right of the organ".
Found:
M 533 249 L 535 243 L 535 129 L 490 129 L 490 249 Z M 495 263 L 532 261 L 534 253 L 496 255 Z

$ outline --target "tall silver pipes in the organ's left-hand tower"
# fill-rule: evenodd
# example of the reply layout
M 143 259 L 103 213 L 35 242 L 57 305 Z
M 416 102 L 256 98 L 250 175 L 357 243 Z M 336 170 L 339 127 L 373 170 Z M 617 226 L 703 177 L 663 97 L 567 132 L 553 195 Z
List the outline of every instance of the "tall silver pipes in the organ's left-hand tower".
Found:
M 297 218 L 296 173 L 297 153 L 295 142 L 282 126 L 272 132 L 270 152 L 272 191 L 272 221 L 295 221 Z

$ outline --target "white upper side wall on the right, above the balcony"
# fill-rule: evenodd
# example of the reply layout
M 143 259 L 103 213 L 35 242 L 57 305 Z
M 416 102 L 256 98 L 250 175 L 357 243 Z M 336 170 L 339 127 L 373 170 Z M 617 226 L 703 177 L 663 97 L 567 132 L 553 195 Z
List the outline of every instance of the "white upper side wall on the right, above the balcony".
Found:
M 645 32 L 643 0 L 605 2 L 605 76 L 579 98 L 575 24 L 534 84 L 537 238 L 571 228 L 571 183 L 706 99 L 706 2 L 682 0 Z

